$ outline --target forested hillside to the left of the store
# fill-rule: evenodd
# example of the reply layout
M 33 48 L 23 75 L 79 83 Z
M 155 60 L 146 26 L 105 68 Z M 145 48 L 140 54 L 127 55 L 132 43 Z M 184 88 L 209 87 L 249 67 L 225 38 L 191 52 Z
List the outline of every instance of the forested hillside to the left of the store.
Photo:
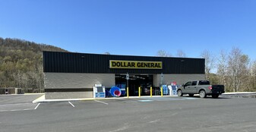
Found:
M 0 37 L 0 87 L 43 92 L 43 51 L 67 52 L 55 46 Z

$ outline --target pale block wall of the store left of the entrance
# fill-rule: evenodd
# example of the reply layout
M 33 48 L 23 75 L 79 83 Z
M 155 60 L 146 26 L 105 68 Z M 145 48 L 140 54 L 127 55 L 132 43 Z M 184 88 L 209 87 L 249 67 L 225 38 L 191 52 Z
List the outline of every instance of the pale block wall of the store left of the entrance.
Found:
M 95 84 L 115 86 L 115 74 L 44 73 L 45 89 L 93 89 Z M 93 98 L 93 92 L 46 92 L 46 99 Z

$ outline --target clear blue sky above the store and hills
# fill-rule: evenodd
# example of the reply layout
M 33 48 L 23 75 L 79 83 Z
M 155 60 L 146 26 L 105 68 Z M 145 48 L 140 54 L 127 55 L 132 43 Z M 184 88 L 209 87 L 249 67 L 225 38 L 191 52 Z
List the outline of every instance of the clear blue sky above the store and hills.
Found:
M 256 58 L 255 0 L 0 0 L 0 37 L 70 52 Z

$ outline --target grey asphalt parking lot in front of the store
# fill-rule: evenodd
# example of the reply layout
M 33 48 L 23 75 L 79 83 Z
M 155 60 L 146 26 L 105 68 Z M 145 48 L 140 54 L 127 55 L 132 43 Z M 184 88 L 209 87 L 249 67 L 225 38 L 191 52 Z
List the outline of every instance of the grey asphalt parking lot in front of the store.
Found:
M 33 104 L 39 96 L 10 97 L 0 96 L 5 100 L 0 102 L 3 132 L 256 131 L 253 98 L 164 96 Z

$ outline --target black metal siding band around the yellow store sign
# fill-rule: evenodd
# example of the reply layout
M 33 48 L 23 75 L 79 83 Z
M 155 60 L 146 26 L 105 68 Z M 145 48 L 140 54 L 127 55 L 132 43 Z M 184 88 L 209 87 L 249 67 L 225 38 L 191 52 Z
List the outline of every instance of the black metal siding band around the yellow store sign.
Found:
M 109 60 L 163 61 L 163 69 L 110 69 Z M 204 74 L 204 58 L 164 58 L 71 52 L 43 52 L 43 71 L 102 74 Z

